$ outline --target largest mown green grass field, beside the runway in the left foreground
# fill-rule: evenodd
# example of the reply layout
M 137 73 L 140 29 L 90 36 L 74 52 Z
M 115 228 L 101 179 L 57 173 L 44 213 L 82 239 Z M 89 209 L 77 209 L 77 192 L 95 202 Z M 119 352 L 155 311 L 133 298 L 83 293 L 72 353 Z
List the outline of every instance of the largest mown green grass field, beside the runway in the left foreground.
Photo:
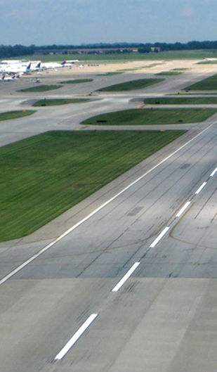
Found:
M 47 132 L 0 148 L 0 240 L 26 236 L 184 131 Z

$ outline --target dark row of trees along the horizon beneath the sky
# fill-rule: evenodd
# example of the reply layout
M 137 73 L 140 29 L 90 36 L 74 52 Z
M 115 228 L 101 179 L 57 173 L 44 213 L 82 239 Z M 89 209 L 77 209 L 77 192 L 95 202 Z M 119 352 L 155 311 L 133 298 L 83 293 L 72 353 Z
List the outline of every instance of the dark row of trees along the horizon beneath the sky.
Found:
M 217 41 L 188 41 L 188 43 L 146 43 L 146 44 L 136 44 L 136 43 L 116 43 L 116 44 L 86 44 L 86 45 L 49 45 L 49 46 L 5 46 L 0 45 L 0 58 L 11 58 L 18 56 L 30 56 L 33 55 L 37 50 L 40 51 L 52 51 L 57 49 L 122 49 L 127 51 L 127 48 L 138 48 L 140 53 L 149 53 L 151 48 L 160 48 L 161 51 L 180 51 L 180 50 L 195 50 L 195 49 L 217 49 Z M 112 52 L 112 51 L 111 51 Z

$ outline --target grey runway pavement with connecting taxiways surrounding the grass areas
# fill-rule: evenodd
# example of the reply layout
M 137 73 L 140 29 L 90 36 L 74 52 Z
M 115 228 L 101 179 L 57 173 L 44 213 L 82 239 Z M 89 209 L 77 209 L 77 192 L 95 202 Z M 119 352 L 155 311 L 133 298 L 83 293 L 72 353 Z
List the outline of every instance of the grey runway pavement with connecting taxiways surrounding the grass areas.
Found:
M 162 63 L 154 73 L 180 63 Z M 216 70 L 186 65 L 191 70 L 158 86 L 91 93 L 82 106 L 1 122 L 1 146 L 51 129 L 88 130 L 79 122 L 90 113 L 138 107 L 132 98 L 176 93 Z M 88 84 L 92 92 L 105 80 L 141 75 Z M 32 96 L 11 94 L 6 84 L 4 110 L 28 108 Z M 65 97 L 70 89 L 88 94 L 88 87 L 67 86 Z M 0 244 L 0 371 L 216 371 L 217 115 L 188 129 L 31 236 Z

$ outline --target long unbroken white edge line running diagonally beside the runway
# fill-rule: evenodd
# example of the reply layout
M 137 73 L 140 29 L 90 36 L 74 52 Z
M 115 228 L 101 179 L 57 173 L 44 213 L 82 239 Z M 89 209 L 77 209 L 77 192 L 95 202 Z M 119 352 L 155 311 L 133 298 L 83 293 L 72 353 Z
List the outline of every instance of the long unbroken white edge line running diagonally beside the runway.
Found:
M 100 211 L 101 209 L 103 209 L 107 204 L 111 203 L 114 199 L 118 198 L 119 195 L 121 195 L 125 191 L 129 190 L 129 188 L 131 188 L 134 184 L 136 184 L 138 181 L 140 181 L 140 179 L 143 179 L 145 176 L 147 176 L 147 174 L 150 174 L 154 169 L 156 169 L 157 167 L 159 167 L 160 165 L 162 165 L 164 162 L 166 162 L 166 160 L 170 159 L 173 155 L 175 155 L 176 153 L 178 153 L 178 151 L 180 151 L 183 148 L 185 148 L 185 146 L 188 146 L 189 143 L 191 143 L 192 141 L 194 141 L 195 139 L 197 139 L 197 137 L 201 136 L 204 132 L 206 132 L 206 130 L 208 130 L 209 128 L 211 128 L 216 123 L 217 123 L 217 121 L 216 122 L 213 122 L 212 124 L 210 124 L 209 127 L 207 127 L 202 132 L 200 132 L 199 134 L 197 134 L 197 136 L 195 136 L 192 139 L 190 139 L 190 141 L 184 143 L 183 146 L 180 146 L 180 148 L 178 148 L 176 151 L 174 151 L 173 153 L 171 153 L 171 155 L 169 155 L 166 158 L 164 158 L 164 160 L 162 160 L 161 162 L 159 162 L 157 165 L 154 165 L 154 167 L 152 167 L 152 169 L 150 169 L 145 174 L 143 174 L 141 177 L 139 177 L 138 179 L 136 179 L 136 181 L 133 181 L 129 186 L 126 186 L 126 188 L 124 188 L 122 191 L 120 191 L 119 193 L 117 193 L 116 195 L 114 195 L 113 198 L 111 198 L 110 200 L 107 200 L 107 202 L 105 202 L 103 205 L 100 205 L 100 207 L 98 207 L 96 210 L 93 210 L 93 212 L 91 212 L 90 214 L 88 214 L 88 216 L 86 216 L 84 219 L 81 219 L 81 221 L 79 221 L 77 224 L 75 224 L 70 229 L 68 229 L 67 231 L 65 231 L 65 233 L 63 233 L 63 235 L 60 235 L 58 238 L 56 238 L 51 243 L 49 243 L 48 245 L 46 245 L 44 248 L 42 248 L 41 250 L 39 250 L 39 252 L 37 252 L 34 256 L 30 257 L 29 259 L 27 259 L 27 261 L 23 262 L 20 266 L 18 266 L 16 269 L 14 269 L 13 271 L 11 271 L 11 273 L 9 273 L 8 275 L 4 276 L 4 278 L 2 278 L 0 280 L 0 286 L 4 282 L 6 282 L 9 278 L 11 278 L 11 276 L 17 274 L 18 271 L 20 271 L 24 267 L 26 267 L 27 264 L 29 264 L 30 262 L 34 261 L 34 259 L 36 259 L 37 257 L 41 256 L 44 252 L 46 252 L 46 250 L 48 250 L 49 248 L 53 247 L 53 245 L 55 245 L 55 243 L 58 243 L 58 241 L 60 241 L 61 239 L 65 238 L 65 236 L 67 236 L 69 233 L 71 233 L 74 229 L 76 229 L 78 226 L 80 226 L 81 224 L 83 224 L 84 222 L 86 222 L 87 219 L 91 218 L 94 214 L 96 214 L 98 211 Z

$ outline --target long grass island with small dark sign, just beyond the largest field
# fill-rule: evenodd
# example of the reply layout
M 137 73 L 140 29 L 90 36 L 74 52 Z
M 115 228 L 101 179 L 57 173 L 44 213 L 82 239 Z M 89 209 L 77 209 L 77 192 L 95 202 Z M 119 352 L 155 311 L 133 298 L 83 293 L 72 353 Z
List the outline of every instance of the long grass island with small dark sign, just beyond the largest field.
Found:
M 136 108 L 116 111 L 89 117 L 81 124 L 92 125 L 154 125 L 154 124 L 180 124 L 202 122 L 215 114 L 216 109 L 206 108 L 180 108 L 180 109 L 148 109 Z

